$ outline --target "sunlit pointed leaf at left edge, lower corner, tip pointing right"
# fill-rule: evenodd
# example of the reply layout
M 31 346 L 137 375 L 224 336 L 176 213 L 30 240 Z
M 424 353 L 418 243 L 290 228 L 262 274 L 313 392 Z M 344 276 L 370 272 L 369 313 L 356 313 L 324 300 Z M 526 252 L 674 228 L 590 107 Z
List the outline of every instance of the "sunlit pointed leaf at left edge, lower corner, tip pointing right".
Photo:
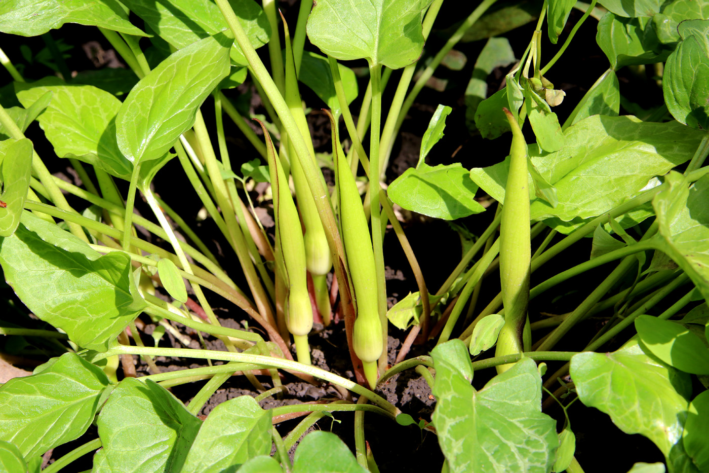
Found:
M 0 386 L 0 440 L 28 458 L 81 437 L 106 386 L 104 372 L 74 353 L 39 374 L 11 379 Z

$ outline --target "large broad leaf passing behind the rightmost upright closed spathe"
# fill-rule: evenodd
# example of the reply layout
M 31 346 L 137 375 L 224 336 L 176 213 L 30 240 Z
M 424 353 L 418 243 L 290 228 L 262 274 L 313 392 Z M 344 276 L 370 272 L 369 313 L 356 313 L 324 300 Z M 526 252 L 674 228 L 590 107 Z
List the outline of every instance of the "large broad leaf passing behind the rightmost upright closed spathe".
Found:
M 559 151 L 545 154 L 530 146 L 532 163 L 556 187 L 559 200 L 551 207 L 535 198 L 530 180 L 530 217 L 571 222 L 608 212 L 644 188 L 654 187 L 653 176 L 688 161 L 702 136 L 676 121 L 661 124 L 634 116 L 589 116 L 564 131 L 564 146 Z M 508 166 L 506 158 L 488 168 L 471 169 L 470 177 L 491 197 L 504 202 Z M 647 211 L 642 214 L 647 216 Z M 620 224 L 625 227 L 623 221 Z

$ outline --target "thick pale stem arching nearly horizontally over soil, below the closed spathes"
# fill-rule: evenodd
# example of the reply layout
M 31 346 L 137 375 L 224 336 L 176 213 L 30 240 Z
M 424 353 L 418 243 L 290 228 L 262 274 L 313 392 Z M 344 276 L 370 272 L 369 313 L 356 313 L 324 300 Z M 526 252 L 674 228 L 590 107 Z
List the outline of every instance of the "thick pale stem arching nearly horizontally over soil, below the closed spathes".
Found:
M 155 357 L 178 357 L 178 358 L 196 358 L 196 359 L 220 359 L 223 361 L 237 361 L 240 363 L 250 363 L 257 364 L 259 366 L 272 366 L 274 368 L 289 369 L 292 371 L 298 371 L 301 373 L 310 374 L 316 378 L 324 379 L 337 386 L 342 386 L 345 389 L 357 393 L 359 396 L 365 396 L 372 401 L 376 406 L 381 407 L 384 411 L 391 413 L 391 415 L 398 415 L 400 411 L 398 408 L 393 406 L 389 401 L 382 398 L 376 393 L 369 391 L 369 389 L 359 386 L 359 384 L 350 381 L 349 379 L 342 378 L 342 376 L 337 376 L 336 374 L 320 369 L 316 366 L 311 366 L 307 364 L 298 363 L 297 361 L 292 361 L 289 359 L 265 357 L 264 355 L 249 354 L 249 353 L 233 353 L 233 352 L 217 352 L 214 350 L 201 350 L 201 349 L 184 349 L 184 348 L 152 348 L 152 347 L 133 347 L 127 345 L 118 345 L 112 347 L 108 352 L 100 353 L 96 355 L 95 359 L 91 359 L 91 362 L 96 362 L 104 358 L 111 357 L 114 354 L 148 354 Z

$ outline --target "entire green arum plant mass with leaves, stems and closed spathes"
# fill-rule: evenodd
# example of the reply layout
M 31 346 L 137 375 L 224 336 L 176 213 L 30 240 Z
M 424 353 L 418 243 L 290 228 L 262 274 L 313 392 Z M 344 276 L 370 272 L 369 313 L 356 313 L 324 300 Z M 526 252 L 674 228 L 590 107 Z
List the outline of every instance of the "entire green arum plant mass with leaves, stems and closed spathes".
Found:
M 422 429 L 422 439 L 424 430 L 435 432 L 443 471 L 576 473 L 583 471 L 575 456 L 580 423 L 570 408 L 576 399 L 581 403 L 574 406 L 597 408 L 623 432 L 657 445 L 665 463 L 645 465 L 646 459 L 633 457 L 627 459 L 635 462 L 631 471 L 709 471 L 709 320 L 702 303 L 709 298 L 709 167 L 703 166 L 709 154 L 709 3 L 599 0 L 601 9 L 596 0 L 540 2 L 519 60 L 508 40 L 490 38 L 466 92 L 471 132 L 497 139 L 491 149 L 499 158 L 511 140 L 509 156 L 472 169 L 427 164 L 452 113 L 439 105 L 417 165 L 385 190 L 395 138 L 437 67 L 454 62 L 452 48 L 466 36 L 498 36 L 525 22 L 515 2 L 483 0 L 454 31 L 439 32 L 445 43 L 425 52 L 428 62 L 419 60 L 442 3 L 320 0 L 311 11 L 306 1 L 292 30 L 286 17 L 279 21 L 273 0 L 10 0 L 0 6 L 4 38 L 41 35 L 48 51 L 32 58 L 31 49 L 20 46 L 26 64 L 17 67 L 0 51 L 12 78 L 0 89 L 0 265 L 16 296 L 45 322 L 30 328 L 23 310 L 0 320 L 1 334 L 33 340 L 37 348 L 28 349 L 28 342 L 19 353 L 43 356 L 31 376 L 0 386 L 0 472 L 40 471 L 41 455 L 82 437 L 92 424 L 98 438 L 42 471 L 60 471 L 100 449 L 92 472 L 376 472 L 375 459 L 381 463 L 385 455 L 365 442 L 364 413 L 370 412 L 389 421 L 392 436 L 411 424 Z M 566 33 L 574 6 L 583 14 Z M 598 19 L 596 40 L 610 68 L 562 121 L 552 107 L 564 92 L 549 81 L 549 70 L 589 16 Z M 65 23 L 99 28 L 128 75 L 104 70 L 72 77 L 70 47 L 50 35 L 52 29 L 61 35 Z M 313 50 L 306 49 L 306 37 Z M 545 63 L 547 39 L 563 42 Z M 264 45 L 268 64 L 257 53 Z M 346 65 L 363 59 L 369 85 L 360 93 Z M 23 77 L 35 63 L 55 74 Z M 505 87 L 487 97 L 486 76 L 512 63 Z M 652 87 L 664 101 L 645 109 L 652 103 L 621 96 L 623 67 L 636 76 L 655 72 Z M 389 102 L 383 96 L 392 77 L 398 85 Z M 30 78 L 38 80 L 26 82 Z M 554 80 L 564 80 L 564 72 L 555 70 Z M 304 105 L 301 84 L 329 109 L 331 153 L 316 153 L 305 106 L 322 104 Z M 258 94 L 264 115 L 246 116 L 233 103 L 234 89 L 245 85 Z M 620 116 L 621 104 L 637 116 Z M 249 143 L 247 159 L 230 157 L 224 114 Z M 259 119 L 263 138 L 248 118 Z M 30 129 L 34 121 L 51 150 Z M 52 151 L 56 159 L 48 156 Z M 69 160 L 82 186 L 52 175 L 59 158 Z M 172 182 L 161 173 L 171 161 L 189 182 L 184 198 L 193 199 L 194 190 L 237 264 L 227 266 L 213 254 L 191 216 L 180 216 L 180 200 L 164 202 L 155 193 L 152 184 Z M 334 186 L 321 168 L 334 170 Z M 266 181 L 273 241 L 255 217 L 258 202 L 249 192 L 253 182 Z M 481 205 L 483 192 L 500 203 L 496 210 Z M 133 212 L 141 195 L 157 223 Z M 395 204 L 447 221 L 496 213 L 486 228 L 474 229 L 479 236 L 430 293 Z M 386 310 L 388 224 L 418 291 Z M 592 237 L 590 259 L 571 266 L 554 259 L 566 250 L 584 251 L 584 237 Z M 542 266 L 545 280 L 538 281 Z M 501 292 L 484 298 L 481 284 L 498 267 Z M 581 303 L 574 300 L 563 315 L 532 313 L 536 298 L 583 276 L 597 279 Z M 234 318 L 243 330 L 220 324 L 213 294 L 204 289 L 238 309 Z M 478 300 L 486 307 L 480 310 Z M 333 327 L 335 303 L 348 345 L 338 348 L 349 353 L 354 381 L 311 364 L 313 315 Z M 601 317 L 601 327 L 586 323 L 591 317 Z M 408 330 L 393 366 L 389 322 Z M 155 346 L 141 336 L 146 323 L 155 327 Z M 182 326 L 194 331 L 201 348 L 189 347 L 194 340 Z M 166 332 L 185 348 L 167 347 Z M 208 349 L 205 337 L 225 350 Z M 408 357 L 417 337 L 435 343 L 430 356 Z M 574 351 L 553 351 L 560 342 Z M 494 357 L 477 359 L 495 345 Z M 614 351 L 596 353 L 604 347 Z M 135 377 L 134 355 L 150 374 Z M 163 371 L 157 357 L 201 359 L 208 366 Z M 556 371 L 547 374 L 546 363 Z M 486 371 L 484 386 L 471 385 L 475 371 L 492 367 L 498 374 Z M 414 420 L 375 392 L 408 369 L 435 396 L 432 423 Z M 259 392 L 256 399 L 233 398 L 199 416 L 233 376 L 247 379 Z M 341 398 L 263 409 L 258 401 L 286 391 L 281 376 L 325 381 Z M 187 406 L 168 391 L 205 380 Z M 557 401 L 562 407 L 560 433 L 542 412 L 545 393 L 545 408 Z M 301 440 L 335 411 L 354 412 L 356 455 L 332 433 Z M 281 437 L 274 424 L 298 415 L 304 418 Z

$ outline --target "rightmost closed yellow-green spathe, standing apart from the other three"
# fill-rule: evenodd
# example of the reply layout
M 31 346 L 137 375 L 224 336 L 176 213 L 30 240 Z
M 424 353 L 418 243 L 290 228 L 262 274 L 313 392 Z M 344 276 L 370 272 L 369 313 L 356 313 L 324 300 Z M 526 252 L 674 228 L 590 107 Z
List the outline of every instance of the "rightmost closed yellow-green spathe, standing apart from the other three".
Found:
M 530 298 L 530 195 L 527 143 L 519 124 L 503 109 L 512 129 L 510 171 L 500 222 L 500 280 L 505 325 L 497 339 L 496 357 L 529 351 L 532 343 L 527 306 Z M 513 365 L 497 367 L 498 373 Z

